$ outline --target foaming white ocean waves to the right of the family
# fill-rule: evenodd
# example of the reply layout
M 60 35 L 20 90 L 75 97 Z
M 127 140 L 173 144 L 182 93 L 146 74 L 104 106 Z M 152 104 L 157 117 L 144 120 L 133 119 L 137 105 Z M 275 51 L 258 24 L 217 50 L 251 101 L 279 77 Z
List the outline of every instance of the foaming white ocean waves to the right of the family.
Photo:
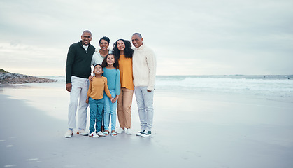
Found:
M 199 92 L 231 92 L 293 97 L 293 80 L 260 78 L 162 77 L 156 79 L 157 90 L 190 90 Z

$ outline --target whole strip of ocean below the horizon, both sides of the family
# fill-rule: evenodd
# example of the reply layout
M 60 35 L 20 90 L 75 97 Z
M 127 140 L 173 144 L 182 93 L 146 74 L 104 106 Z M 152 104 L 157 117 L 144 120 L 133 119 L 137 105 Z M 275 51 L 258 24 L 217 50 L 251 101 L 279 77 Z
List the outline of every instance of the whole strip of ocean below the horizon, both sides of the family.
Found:
M 65 76 L 41 76 L 56 79 L 47 83 L 65 87 Z M 255 94 L 269 97 L 293 98 L 293 75 L 288 76 L 157 76 L 155 90 L 176 92 L 214 92 Z

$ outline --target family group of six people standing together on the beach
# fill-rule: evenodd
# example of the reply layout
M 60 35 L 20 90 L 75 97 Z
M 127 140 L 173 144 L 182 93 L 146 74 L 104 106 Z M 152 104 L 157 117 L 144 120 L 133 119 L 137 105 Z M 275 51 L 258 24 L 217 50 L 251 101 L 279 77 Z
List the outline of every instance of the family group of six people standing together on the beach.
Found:
M 83 31 L 81 40 L 69 47 L 66 59 L 66 90 L 70 92 L 68 111 L 69 130 L 64 137 L 77 134 L 89 137 L 115 137 L 121 133 L 132 134 L 131 104 L 135 93 L 141 130 L 137 136 L 152 134 L 153 96 L 155 90 L 156 57 L 143 43 L 139 33 L 131 42 L 119 39 L 109 49 L 110 39 L 103 36 L 96 50 L 92 33 Z M 93 72 L 92 71 L 92 66 Z M 90 132 L 87 125 L 87 107 L 90 106 Z M 116 109 L 120 127 L 116 130 Z M 110 128 L 109 128 L 110 124 Z

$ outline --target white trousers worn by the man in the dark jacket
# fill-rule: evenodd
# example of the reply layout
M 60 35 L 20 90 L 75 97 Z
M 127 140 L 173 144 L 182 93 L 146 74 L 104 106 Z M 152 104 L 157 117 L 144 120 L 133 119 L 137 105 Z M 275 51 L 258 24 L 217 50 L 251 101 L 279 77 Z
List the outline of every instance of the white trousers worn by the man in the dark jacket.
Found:
M 71 85 L 68 127 L 76 128 L 76 110 L 78 109 L 78 129 L 85 129 L 87 125 L 87 106 L 89 105 L 85 100 L 87 99 L 89 80 L 71 76 Z

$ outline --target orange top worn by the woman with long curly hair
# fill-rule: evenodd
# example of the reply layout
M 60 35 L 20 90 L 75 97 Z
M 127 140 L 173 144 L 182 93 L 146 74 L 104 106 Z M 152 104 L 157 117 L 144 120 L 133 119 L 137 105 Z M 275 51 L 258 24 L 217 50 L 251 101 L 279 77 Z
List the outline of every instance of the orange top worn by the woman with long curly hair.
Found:
M 120 55 L 119 59 L 120 83 L 121 88 L 125 87 L 134 90 L 134 76 L 132 73 L 132 58 Z

